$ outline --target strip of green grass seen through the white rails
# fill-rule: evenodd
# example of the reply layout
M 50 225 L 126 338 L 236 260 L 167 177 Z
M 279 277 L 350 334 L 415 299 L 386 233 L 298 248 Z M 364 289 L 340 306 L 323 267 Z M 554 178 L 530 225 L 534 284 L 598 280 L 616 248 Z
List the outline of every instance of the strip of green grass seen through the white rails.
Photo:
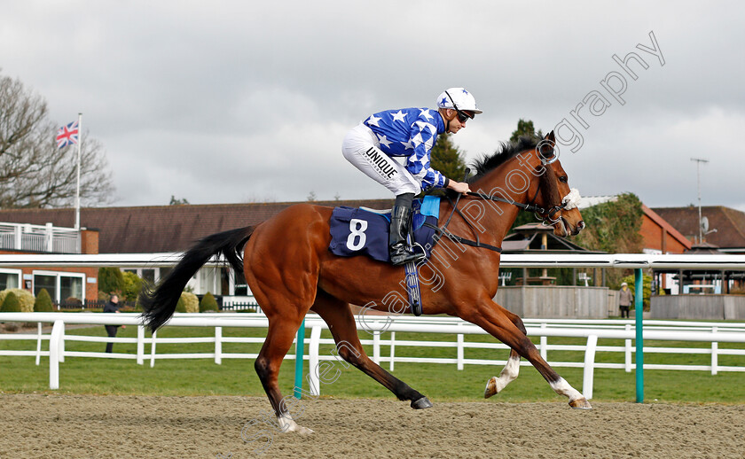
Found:
M 213 329 L 190 327 L 167 327 L 159 331 L 160 338 L 208 336 Z M 223 337 L 256 336 L 263 337 L 264 329 L 223 329 Z M 67 335 L 85 334 L 106 336 L 103 326 L 87 329 L 68 330 Z M 135 338 L 137 329 L 128 327 L 120 330 L 119 337 Z M 323 338 L 331 338 L 324 331 Z M 368 338 L 364 332 L 361 338 Z M 389 334 L 383 335 L 388 338 Z M 432 339 L 432 335 L 420 333 L 396 333 L 400 339 Z M 437 340 L 455 342 L 455 335 L 438 335 Z M 466 336 L 467 341 L 494 342 L 486 336 Z M 537 338 L 535 339 L 537 341 Z M 549 345 L 584 345 L 582 338 L 549 338 Z M 623 340 L 600 339 L 599 346 L 623 346 Z M 647 341 L 646 346 L 701 346 L 710 343 L 688 343 L 670 341 Z M 104 343 L 67 342 L 67 351 L 103 351 Z M 223 343 L 223 353 L 257 353 L 260 344 Z M 720 343 L 719 348 L 745 348 L 745 344 L 731 345 Z M 33 341 L 0 341 L 0 349 L 33 349 Z M 322 345 L 321 354 L 330 354 L 332 345 Z M 372 355 L 372 346 L 366 346 Z M 135 344 L 115 344 L 115 352 L 136 353 Z M 145 346 L 145 357 L 150 347 Z M 294 352 L 294 348 L 291 350 Z M 210 353 L 214 345 L 204 344 L 158 344 L 160 353 Z M 389 354 L 388 346 L 381 346 L 381 355 Z M 437 347 L 396 346 L 396 356 L 428 356 L 455 358 L 456 349 Z M 466 349 L 467 359 L 505 359 L 506 350 Z M 583 362 L 584 352 L 549 350 L 549 361 Z M 598 352 L 596 362 L 623 362 L 622 353 Z M 707 354 L 645 354 L 645 363 L 666 364 L 710 364 Z M 719 356 L 719 365 L 745 366 L 745 356 Z M 388 362 L 382 362 L 388 370 Z M 341 377 L 333 384 L 321 386 L 323 397 L 341 399 L 373 398 L 392 399 L 393 395 L 370 377 L 354 368 L 345 368 L 341 362 L 333 361 L 333 368 L 341 371 Z M 424 364 L 396 362 L 393 374 L 412 385 L 420 393 L 433 401 L 482 401 L 486 381 L 498 375 L 501 366 L 466 365 L 465 370 L 456 370 L 453 364 Z M 583 370 L 557 368 L 577 390 L 582 390 Z M 308 362 L 305 362 L 305 374 Z M 256 377 L 253 361 L 245 359 L 224 359 L 216 365 L 212 359 L 194 360 L 156 360 L 154 368 L 150 361 L 137 365 L 134 360 L 113 360 L 85 357 L 66 357 L 59 366 L 60 389 L 58 393 L 98 393 L 98 394 L 143 394 L 143 395 L 255 395 L 263 396 L 263 389 Z M 675 402 L 745 402 L 745 373 L 719 372 L 712 376 L 709 371 L 646 370 L 645 401 Z M 292 393 L 294 385 L 294 362 L 286 361 L 279 375 L 282 391 Z M 43 357 L 41 365 L 35 365 L 34 357 L 0 356 L 0 391 L 5 393 L 50 393 L 49 361 Z M 624 370 L 595 370 L 595 401 L 635 401 L 636 379 L 633 372 Z M 556 395 L 532 367 L 521 367 L 517 380 L 494 397 L 497 401 L 564 401 Z

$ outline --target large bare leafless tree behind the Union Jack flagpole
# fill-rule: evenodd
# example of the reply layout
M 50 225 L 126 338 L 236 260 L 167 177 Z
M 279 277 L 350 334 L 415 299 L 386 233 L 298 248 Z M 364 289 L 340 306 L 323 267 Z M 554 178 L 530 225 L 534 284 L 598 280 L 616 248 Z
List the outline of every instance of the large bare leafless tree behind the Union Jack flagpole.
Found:
M 59 126 L 47 119 L 43 97 L 0 76 L 0 207 L 75 204 L 77 146 L 58 150 Z M 106 152 L 82 134 L 80 197 L 84 206 L 114 200 Z

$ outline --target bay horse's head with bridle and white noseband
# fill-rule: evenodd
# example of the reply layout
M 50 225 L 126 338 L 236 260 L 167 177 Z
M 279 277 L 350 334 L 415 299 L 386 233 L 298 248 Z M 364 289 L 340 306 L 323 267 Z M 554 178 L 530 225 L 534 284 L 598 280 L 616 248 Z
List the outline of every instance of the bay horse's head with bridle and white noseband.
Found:
M 535 203 L 541 209 L 536 213 L 544 224 L 553 226 L 553 234 L 559 237 L 579 234 L 584 229 L 579 212 L 579 191 L 569 188 L 569 177 L 561 167 L 553 131 L 537 145 L 535 152 L 541 164 Z M 541 212 L 542 210 L 542 212 Z

